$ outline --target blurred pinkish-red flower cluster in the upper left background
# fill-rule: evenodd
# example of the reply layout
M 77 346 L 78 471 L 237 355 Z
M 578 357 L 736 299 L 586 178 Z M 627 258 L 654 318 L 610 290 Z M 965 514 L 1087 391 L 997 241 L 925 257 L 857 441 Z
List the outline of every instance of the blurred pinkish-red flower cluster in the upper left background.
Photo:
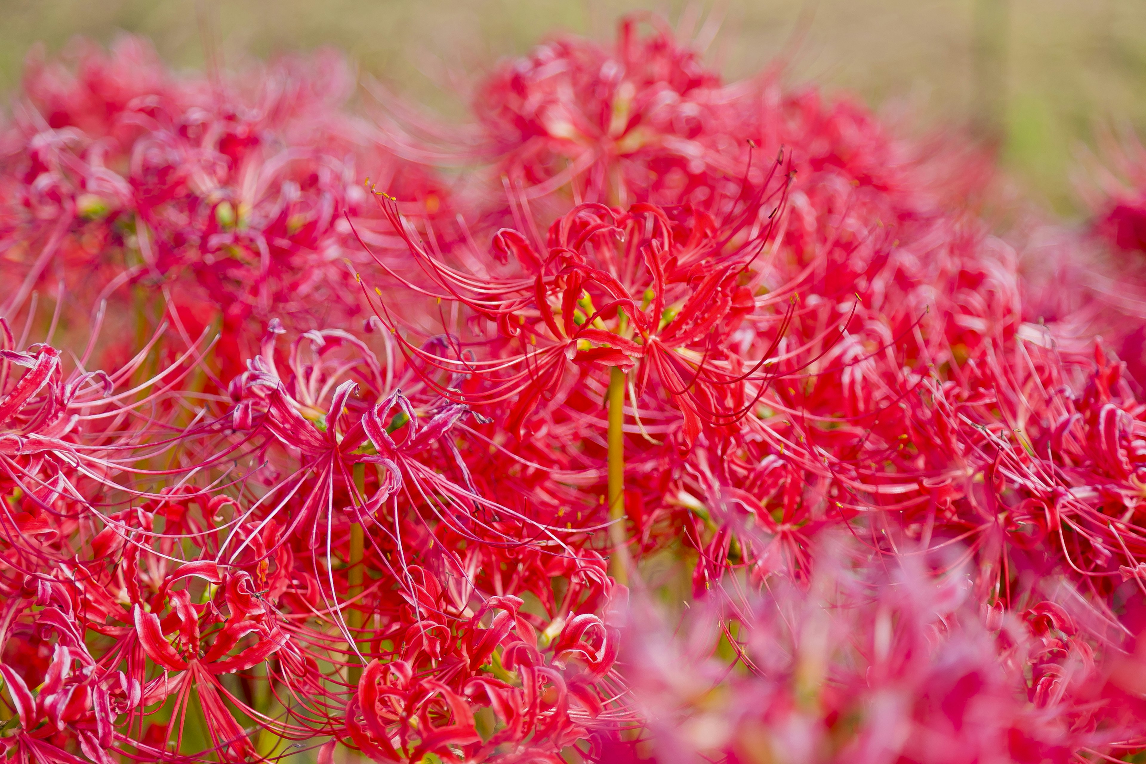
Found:
M 72 69 L 30 61 L 3 131 L 9 318 L 37 291 L 74 306 L 62 321 L 77 329 L 105 300 L 155 312 L 162 292 L 185 332 L 222 330 L 229 377 L 273 316 L 306 331 L 360 313 L 344 260 L 362 257 L 346 215 L 372 208 L 364 168 L 422 212 L 441 206 L 430 175 L 343 108 L 354 80 L 332 53 L 227 80 L 176 77 L 134 38 L 73 55 Z M 375 242 L 388 233 L 358 226 Z

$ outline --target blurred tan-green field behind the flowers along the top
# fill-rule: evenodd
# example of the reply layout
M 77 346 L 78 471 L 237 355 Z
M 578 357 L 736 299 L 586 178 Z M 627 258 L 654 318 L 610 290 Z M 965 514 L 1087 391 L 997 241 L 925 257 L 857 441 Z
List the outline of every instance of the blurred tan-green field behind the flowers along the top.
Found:
M 226 64 L 331 45 L 360 71 L 461 115 L 450 82 L 555 30 L 610 37 L 619 14 L 658 10 L 712 37 L 729 78 L 785 49 L 793 81 L 906 107 L 920 127 L 995 134 L 1004 165 L 1035 202 L 1078 212 L 1070 173 L 1100 129 L 1146 133 L 1146 2 L 1141 0 L 0 0 L 0 92 L 41 41 L 146 34 L 178 66 L 202 66 L 203 29 Z M 978 72 L 978 73 L 976 73 Z

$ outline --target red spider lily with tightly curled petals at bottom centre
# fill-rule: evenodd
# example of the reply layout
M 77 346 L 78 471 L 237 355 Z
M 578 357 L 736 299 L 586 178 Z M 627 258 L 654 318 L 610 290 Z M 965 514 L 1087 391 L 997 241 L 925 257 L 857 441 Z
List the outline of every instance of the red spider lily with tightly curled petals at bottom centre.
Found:
M 476 544 L 449 523 L 438 526 L 431 543 L 418 543 L 416 529 L 403 527 L 408 545 L 395 550 L 410 560 L 406 602 L 394 607 L 385 596 L 378 602 L 395 648 L 370 661 L 345 709 L 355 747 L 400 762 L 427 751 L 465 761 L 551 756 L 583 740 L 587 728 L 630 718 L 615 700 L 618 637 L 598 615 L 611 590 L 599 557 L 529 548 L 521 554 Z M 512 575 L 509 560 L 517 561 Z M 563 575 L 571 586 L 552 601 L 551 576 Z M 543 613 L 523 609 L 526 592 Z M 371 645 L 369 655 L 379 653 Z

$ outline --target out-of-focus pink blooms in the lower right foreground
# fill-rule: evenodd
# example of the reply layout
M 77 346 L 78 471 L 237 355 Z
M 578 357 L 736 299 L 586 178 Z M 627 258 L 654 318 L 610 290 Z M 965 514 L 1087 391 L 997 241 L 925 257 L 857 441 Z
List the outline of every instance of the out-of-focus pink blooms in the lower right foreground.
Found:
M 841 538 L 807 590 L 711 599 L 675 632 L 649 600 L 622 660 L 658 762 L 1046 762 L 1141 734 L 1067 611 L 980 613 L 966 572 Z M 728 582 L 729 585 L 732 582 Z

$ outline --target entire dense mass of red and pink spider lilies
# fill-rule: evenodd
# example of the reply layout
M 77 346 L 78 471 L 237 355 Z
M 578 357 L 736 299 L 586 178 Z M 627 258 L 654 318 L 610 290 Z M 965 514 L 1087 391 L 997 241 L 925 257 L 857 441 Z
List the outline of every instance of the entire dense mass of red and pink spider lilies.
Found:
M 955 137 L 658 19 L 464 127 L 69 56 L 0 131 L 8 761 L 1146 748 L 1129 149 L 1050 290 Z

